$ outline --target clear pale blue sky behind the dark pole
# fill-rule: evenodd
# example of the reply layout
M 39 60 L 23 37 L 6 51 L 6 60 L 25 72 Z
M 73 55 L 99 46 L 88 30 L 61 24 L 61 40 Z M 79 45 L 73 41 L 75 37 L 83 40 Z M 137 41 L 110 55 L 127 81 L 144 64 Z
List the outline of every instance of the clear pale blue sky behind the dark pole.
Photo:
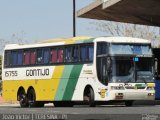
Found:
M 76 8 L 91 2 L 76 0 Z M 0 39 L 6 44 L 18 38 L 33 43 L 72 37 L 72 4 L 72 0 L 0 0 Z M 77 36 L 105 36 L 91 29 L 93 21 L 77 18 Z

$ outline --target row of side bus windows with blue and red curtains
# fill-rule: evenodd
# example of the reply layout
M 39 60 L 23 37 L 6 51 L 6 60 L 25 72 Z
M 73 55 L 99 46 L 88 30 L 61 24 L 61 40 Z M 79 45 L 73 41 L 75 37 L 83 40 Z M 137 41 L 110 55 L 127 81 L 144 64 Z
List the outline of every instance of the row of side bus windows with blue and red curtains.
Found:
M 5 66 L 91 62 L 93 61 L 93 52 L 93 44 L 6 51 Z

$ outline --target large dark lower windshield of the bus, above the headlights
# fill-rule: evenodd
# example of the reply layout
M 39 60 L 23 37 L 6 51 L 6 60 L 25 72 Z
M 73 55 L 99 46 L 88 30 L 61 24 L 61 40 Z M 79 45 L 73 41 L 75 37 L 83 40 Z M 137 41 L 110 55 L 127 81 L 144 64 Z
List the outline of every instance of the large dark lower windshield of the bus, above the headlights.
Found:
M 151 58 L 114 58 L 111 82 L 153 82 Z

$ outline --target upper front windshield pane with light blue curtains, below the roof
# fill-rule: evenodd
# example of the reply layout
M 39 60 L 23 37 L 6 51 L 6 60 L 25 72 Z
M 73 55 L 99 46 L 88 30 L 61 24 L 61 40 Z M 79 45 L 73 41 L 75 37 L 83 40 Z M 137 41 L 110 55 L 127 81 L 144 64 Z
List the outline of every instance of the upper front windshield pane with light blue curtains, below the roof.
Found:
M 150 45 L 144 44 L 111 44 L 110 46 L 110 54 L 111 55 L 152 55 L 152 50 Z

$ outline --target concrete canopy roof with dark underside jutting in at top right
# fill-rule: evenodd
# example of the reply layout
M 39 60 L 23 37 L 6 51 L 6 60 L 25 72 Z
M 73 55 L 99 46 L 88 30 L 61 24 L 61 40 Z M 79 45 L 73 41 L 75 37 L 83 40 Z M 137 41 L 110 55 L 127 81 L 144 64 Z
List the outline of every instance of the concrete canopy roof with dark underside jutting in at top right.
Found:
M 77 11 L 81 18 L 160 26 L 159 0 L 96 0 Z

